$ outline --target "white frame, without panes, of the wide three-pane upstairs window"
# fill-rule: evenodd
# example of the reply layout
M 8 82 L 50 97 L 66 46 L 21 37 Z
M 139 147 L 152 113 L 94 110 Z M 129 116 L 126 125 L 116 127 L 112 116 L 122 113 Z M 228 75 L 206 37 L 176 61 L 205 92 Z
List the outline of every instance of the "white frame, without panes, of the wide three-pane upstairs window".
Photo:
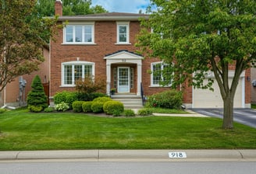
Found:
M 72 26 L 73 27 L 73 42 L 66 41 L 66 27 Z M 82 41 L 76 42 L 76 26 L 82 26 Z M 85 27 L 91 26 L 91 42 L 87 42 L 84 40 L 85 35 Z M 94 23 L 69 23 L 63 28 L 63 44 L 95 44 L 94 43 Z

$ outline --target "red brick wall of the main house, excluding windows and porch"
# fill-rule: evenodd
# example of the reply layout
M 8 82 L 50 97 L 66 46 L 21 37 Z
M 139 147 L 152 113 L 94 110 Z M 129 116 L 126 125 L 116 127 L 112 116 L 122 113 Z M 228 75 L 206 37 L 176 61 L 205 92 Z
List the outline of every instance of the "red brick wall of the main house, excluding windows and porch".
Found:
M 64 45 L 63 31 L 59 30 L 59 36 L 56 42 L 51 42 L 51 83 L 50 96 L 54 96 L 56 92 L 63 90 L 74 90 L 61 86 L 61 65 L 62 62 L 76 61 L 76 57 L 80 57 L 80 61 L 91 61 L 95 63 L 95 75 L 106 75 L 106 61 L 103 59 L 106 54 L 115 53 L 118 50 L 128 50 L 135 52 L 136 35 L 139 33 L 140 25 L 138 22 L 130 22 L 130 45 L 116 44 L 116 21 L 95 22 L 94 25 L 94 43 L 95 45 Z M 159 61 L 157 58 L 144 58 L 142 61 L 142 82 L 144 87 L 144 95 L 149 96 L 155 92 L 162 92 L 169 88 L 151 87 L 151 75 L 148 70 L 151 68 L 151 62 Z M 112 65 L 112 68 L 114 66 Z M 134 68 L 134 75 L 137 74 L 137 68 Z M 246 76 L 250 75 L 250 70 L 246 71 Z M 112 78 L 113 79 L 113 78 Z M 134 76 L 134 79 L 137 78 Z M 246 82 L 246 103 L 251 102 L 251 84 Z M 134 82 L 137 85 L 137 82 Z M 184 84 L 187 86 L 187 83 Z M 136 90 L 136 89 L 135 89 Z M 131 90 L 131 92 L 137 92 Z M 138 89 L 140 90 L 140 89 Z M 192 103 L 192 87 L 184 89 L 183 102 Z

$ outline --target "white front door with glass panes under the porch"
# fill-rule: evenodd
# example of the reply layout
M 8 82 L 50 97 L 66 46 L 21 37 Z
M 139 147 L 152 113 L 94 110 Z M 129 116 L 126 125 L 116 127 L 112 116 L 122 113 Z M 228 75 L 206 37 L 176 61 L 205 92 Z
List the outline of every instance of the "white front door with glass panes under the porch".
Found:
M 117 92 L 130 92 L 130 68 L 118 68 Z

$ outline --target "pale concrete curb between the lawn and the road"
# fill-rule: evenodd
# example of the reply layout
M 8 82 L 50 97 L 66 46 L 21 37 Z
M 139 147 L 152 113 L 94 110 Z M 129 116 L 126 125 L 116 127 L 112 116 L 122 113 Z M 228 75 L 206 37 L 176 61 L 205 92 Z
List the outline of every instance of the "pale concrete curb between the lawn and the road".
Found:
M 187 158 L 169 158 L 170 151 L 185 152 Z M 79 159 L 87 162 L 256 161 L 256 150 L 0 151 L 0 162 L 51 159 Z

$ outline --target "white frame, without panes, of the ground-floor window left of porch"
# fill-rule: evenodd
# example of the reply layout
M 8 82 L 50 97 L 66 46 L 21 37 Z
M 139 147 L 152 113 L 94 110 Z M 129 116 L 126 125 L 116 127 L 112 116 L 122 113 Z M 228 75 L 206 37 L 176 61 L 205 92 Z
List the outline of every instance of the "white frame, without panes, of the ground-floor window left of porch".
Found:
M 65 84 L 65 66 L 72 66 L 72 84 Z M 62 87 L 74 87 L 75 85 L 75 65 L 82 65 L 82 78 L 84 78 L 84 66 L 91 65 L 91 75 L 95 74 L 95 63 L 90 61 L 67 61 L 62 63 Z

